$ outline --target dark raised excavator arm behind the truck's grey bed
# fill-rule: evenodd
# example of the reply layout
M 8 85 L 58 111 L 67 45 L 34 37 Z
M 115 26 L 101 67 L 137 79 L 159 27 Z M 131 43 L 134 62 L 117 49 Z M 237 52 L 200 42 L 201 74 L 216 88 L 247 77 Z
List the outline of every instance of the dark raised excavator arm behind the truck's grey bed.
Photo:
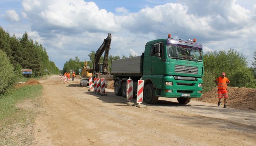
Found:
M 92 67 L 93 73 L 109 74 L 107 59 L 108 59 L 108 53 L 110 51 L 110 43 L 111 43 L 111 34 L 108 33 L 107 38 L 104 39 L 102 45 L 95 52 L 94 64 Z M 103 65 L 101 70 L 100 58 L 104 51 L 105 51 L 105 54 L 104 54 Z

